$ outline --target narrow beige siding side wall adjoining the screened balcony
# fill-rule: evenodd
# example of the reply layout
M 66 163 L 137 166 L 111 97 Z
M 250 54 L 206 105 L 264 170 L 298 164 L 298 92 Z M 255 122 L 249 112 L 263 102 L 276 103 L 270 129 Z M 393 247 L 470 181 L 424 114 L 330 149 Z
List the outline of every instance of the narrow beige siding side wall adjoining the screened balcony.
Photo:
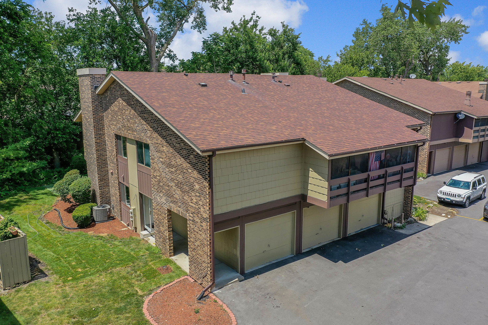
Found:
M 304 149 L 304 193 L 327 201 L 329 161 L 313 149 Z

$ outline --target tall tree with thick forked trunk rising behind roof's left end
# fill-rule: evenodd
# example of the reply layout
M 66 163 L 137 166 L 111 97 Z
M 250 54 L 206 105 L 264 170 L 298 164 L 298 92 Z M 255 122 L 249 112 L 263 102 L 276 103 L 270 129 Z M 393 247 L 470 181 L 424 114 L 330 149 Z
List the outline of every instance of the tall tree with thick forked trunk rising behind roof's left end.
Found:
M 132 13 L 129 14 L 125 0 L 108 0 L 119 18 L 126 24 L 134 36 L 139 38 L 146 47 L 150 71 L 159 72 L 163 57 L 175 59 L 169 45 L 178 32 L 183 32 L 183 25 L 191 19 L 191 29 L 201 33 L 206 29 L 207 21 L 203 3 L 211 9 L 231 12 L 232 0 L 131 0 Z M 144 18 L 144 10 L 151 8 L 157 16 L 158 28 L 148 24 L 150 16 Z M 132 17 L 135 17 L 133 19 Z M 136 23 L 137 22 L 137 23 Z

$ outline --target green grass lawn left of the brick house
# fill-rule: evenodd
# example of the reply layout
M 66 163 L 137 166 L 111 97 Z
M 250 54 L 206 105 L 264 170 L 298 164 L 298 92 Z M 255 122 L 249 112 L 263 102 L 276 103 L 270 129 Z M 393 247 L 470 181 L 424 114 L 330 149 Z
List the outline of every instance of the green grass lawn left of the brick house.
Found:
M 60 236 L 29 216 L 39 231 L 34 237 L 27 214 L 49 210 L 55 200 L 51 189 L 41 187 L 0 201 L 0 214 L 20 223 L 32 238 L 29 251 L 47 265 L 50 275 L 47 281 L 1 295 L 0 324 L 149 324 L 142 313 L 144 297 L 186 273 L 145 241 L 110 241 L 83 232 Z M 173 272 L 160 274 L 156 268 L 163 265 Z

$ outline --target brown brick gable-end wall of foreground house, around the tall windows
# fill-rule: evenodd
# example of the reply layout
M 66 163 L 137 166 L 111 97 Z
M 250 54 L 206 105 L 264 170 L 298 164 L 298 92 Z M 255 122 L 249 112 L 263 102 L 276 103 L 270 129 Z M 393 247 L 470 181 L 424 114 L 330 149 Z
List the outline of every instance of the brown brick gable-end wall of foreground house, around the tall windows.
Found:
M 103 106 L 107 107 L 104 113 L 107 160 L 112 171 L 110 195 L 115 214 L 121 218 L 116 135 L 122 135 L 150 146 L 156 245 L 163 255 L 173 255 L 171 210 L 179 211 L 188 219 L 191 234 L 188 238 L 190 276 L 198 282 L 210 283 L 208 157 L 196 153 L 118 82 L 112 83 L 102 96 Z

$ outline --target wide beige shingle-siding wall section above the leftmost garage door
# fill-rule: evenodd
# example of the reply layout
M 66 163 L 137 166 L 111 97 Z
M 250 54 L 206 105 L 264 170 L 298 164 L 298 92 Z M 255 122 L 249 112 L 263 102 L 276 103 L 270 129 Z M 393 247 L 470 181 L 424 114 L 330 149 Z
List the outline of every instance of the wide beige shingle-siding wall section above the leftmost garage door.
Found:
M 218 153 L 213 159 L 215 214 L 303 191 L 301 143 Z

